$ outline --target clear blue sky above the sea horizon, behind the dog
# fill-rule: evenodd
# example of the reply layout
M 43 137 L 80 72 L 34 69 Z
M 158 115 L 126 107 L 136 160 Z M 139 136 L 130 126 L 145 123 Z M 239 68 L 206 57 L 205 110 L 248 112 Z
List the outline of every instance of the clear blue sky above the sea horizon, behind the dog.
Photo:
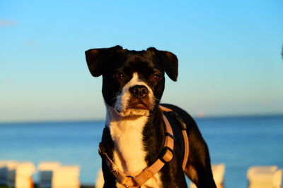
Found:
M 103 119 L 84 51 L 172 51 L 163 102 L 192 115 L 283 113 L 283 1 L 0 1 L 0 122 Z

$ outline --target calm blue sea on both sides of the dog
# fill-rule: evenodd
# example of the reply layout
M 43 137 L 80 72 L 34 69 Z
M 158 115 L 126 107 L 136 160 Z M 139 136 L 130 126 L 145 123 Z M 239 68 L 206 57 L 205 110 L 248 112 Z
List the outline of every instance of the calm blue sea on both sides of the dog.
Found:
M 201 118 L 197 123 L 212 163 L 226 164 L 226 188 L 246 187 L 250 165 L 283 168 L 283 115 Z M 0 160 L 79 164 L 81 182 L 94 184 L 103 126 L 103 121 L 0 124 Z

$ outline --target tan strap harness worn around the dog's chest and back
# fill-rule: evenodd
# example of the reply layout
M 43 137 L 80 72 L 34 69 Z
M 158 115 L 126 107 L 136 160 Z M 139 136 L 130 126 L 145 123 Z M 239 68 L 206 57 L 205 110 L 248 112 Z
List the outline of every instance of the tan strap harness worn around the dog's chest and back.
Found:
M 185 151 L 184 151 L 184 159 L 183 159 L 183 170 L 185 169 L 185 165 L 187 163 L 187 157 L 189 155 L 189 141 L 187 138 L 187 131 L 186 131 L 186 125 L 183 123 L 183 120 L 179 117 L 179 115 L 175 112 L 173 112 L 170 108 L 166 108 L 164 106 L 159 106 L 161 111 L 166 112 L 166 113 L 171 113 L 175 117 L 176 120 L 180 123 L 180 127 L 182 128 L 182 134 L 183 134 L 183 139 L 184 139 L 184 146 L 185 146 Z M 115 176 L 116 181 L 119 182 L 120 184 L 123 184 L 127 188 L 139 188 L 141 187 L 142 184 L 144 184 L 147 180 L 151 179 L 151 177 L 154 177 L 156 173 L 158 173 L 163 166 L 170 162 L 173 158 L 173 149 L 174 149 L 174 135 L 173 135 L 173 130 L 172 127 L 164 115 L 162 114 L 163 121 L 165 123 L 165 128 L 166 128 L 166 134 L 165 134 L 165 142 L 163 149 L 161 151 L 160 157 L 149 167 L 145 168 L 144 170 L 139 173 L 139 175 L 133 177 L 131 175 L 126 175 L 123 173 L 119 168 L 117 168 L 117 165 L 113 163 L 113 161 L 110 159 L 108 154 L 105 152 L 105 149 L 103 147 L 103 143 L 100 142 L 99 144 L 99 154 L 101 158 L 105 159 L 106 164 L 108 165 L 108 168 L 110 172 Z

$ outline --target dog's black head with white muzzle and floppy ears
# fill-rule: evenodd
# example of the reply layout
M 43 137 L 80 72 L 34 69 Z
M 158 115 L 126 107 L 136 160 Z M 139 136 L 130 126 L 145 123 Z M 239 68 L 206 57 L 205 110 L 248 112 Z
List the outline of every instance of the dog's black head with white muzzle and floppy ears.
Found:
M 122 116 L 150 115 L 159 104 L 167 73 L 178 77 L 178 59 L 169 51 L 129 51 L 121 46 L 86 51 L 91 75 L 103 75 L 105 104 Z

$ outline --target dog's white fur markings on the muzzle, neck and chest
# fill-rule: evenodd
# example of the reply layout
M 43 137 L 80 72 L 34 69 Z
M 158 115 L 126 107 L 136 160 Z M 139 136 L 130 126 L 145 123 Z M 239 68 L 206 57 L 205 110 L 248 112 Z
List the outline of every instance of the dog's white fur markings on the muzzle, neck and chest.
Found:
M 143 130 L 148 120 L 147 116 L 140 115 L 137 118 L 129 118 L 127 115 L 121 115 L 117 111 L 125 111 L 131 94 L 129 88 L 134 85 L 144 85 L 149 89 L 149 99 L 154 105 L 154 94 L 151 88 L 143 81 L 139 80 L 137 73 L 133 74 L 132 79 L 122 88 L 122 92 L 117 97 L 115 110 L 107 106 L 106 123 L 110 128 L 111 138 L 114 142 L 114 163 L 117 168 L 127 175 L 136 176 L 147 167 L 143 142 Z M 117 187 L 125 187 L 116 183 Z M 157 188 L 161 187 L 161 178 L 159 173 L 145 182 L 141 187 Z

